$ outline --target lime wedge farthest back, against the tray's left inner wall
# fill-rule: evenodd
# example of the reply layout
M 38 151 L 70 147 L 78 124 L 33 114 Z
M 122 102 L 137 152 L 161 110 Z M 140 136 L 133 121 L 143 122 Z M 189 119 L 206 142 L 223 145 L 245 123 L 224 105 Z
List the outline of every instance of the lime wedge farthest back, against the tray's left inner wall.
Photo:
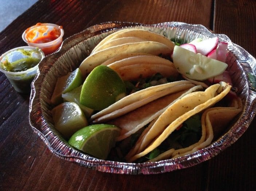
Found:
M 58 78 L 54 92 L 51 97 L 52 104 L 59 104 L 62 102 L 62 94 L 73 90 L 74 88 L 80 86 L 83 83 L 82 73 L 79 68 L 69 72 L 65 76 Z

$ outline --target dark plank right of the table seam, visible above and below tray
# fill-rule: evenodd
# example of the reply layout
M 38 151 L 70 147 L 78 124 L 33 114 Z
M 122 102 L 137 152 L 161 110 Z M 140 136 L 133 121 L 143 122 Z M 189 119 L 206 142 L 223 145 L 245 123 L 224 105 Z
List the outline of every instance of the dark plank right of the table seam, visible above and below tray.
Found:
M 255 1 L 216 0 L 214 32 L 226 34 L 255 56 L 255 15 Z M 254 119 L 235 144 L 209 161 L 208 190 L 255 190 L 255 126 Z

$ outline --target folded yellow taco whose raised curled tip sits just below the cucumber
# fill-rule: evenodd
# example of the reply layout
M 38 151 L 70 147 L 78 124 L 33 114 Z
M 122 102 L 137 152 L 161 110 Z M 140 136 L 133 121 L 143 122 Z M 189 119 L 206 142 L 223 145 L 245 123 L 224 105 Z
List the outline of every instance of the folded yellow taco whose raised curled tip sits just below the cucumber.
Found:
M 205 91 L 192 92 L 175 101 L 162 113 L 141 141 L 135 155 L 127 154 L 126 160 L 133 162 L 157 148 L 175 129 L 189 117 L 212 107 L 231 90 L 227 83 L 220 82 L 208 87 Z M 138 146 L 137 146 L 138 147 Z M 133 149 L 130 151 L 133 153 Z

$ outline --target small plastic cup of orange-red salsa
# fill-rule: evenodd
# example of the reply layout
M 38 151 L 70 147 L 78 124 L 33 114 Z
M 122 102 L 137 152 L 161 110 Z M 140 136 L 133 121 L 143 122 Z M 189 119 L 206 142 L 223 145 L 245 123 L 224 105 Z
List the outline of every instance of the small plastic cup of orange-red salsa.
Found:
M 51 23 L 37 23 L 26 29 L 22 39 L 28 46 L 38 47 L 45 55 L 54 53 L 62 44 L 64 30 L 62 26 Z

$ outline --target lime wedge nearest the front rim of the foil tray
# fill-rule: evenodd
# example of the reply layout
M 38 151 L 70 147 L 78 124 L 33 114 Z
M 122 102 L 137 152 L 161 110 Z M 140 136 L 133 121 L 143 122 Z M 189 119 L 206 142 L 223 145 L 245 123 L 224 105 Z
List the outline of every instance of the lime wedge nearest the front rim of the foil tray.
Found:
M 114 125 L 94 124 L 78 130 L 68 143 L 94 157 L 106 159 L 119 132 L 120 129 Z

